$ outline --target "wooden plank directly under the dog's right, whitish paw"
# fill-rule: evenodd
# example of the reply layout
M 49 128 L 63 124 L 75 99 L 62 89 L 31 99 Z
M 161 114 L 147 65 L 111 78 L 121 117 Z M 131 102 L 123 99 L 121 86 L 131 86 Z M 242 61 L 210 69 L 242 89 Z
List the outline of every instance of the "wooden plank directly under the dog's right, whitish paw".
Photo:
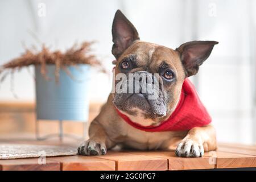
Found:
M 185 170 L 185 169 L 213 169 L 214 164 L 209 163 L 209 157 L 202 158 L 178 158 L 174 151 L 132 151 L 130 154 L 137 154 L 143 156 L 153 156 L 168 160 L 169 170 Z

